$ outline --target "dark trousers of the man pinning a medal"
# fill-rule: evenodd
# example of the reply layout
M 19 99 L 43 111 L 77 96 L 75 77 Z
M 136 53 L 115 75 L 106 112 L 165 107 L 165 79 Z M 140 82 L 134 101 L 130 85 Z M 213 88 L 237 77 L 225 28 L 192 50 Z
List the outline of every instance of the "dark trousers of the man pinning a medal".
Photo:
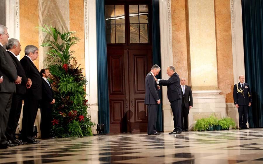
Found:
M 174 131 L 181 132 L 182 99 L 171 102 L 171 108 L 174 115 Z

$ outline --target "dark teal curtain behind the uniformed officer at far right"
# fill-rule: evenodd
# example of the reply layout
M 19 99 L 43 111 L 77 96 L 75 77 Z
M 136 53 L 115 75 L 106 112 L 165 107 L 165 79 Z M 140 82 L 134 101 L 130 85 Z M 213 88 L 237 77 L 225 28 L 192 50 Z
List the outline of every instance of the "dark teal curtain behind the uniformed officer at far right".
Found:
M 249 127 L 263 127 L 263 1 L 242 0 L 245 81 L 250 85 L 252 105 Z

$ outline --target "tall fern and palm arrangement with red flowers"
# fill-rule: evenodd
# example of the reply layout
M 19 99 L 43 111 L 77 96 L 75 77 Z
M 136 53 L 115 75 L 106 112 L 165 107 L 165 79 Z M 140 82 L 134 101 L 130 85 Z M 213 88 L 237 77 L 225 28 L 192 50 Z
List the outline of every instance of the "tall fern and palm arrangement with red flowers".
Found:
M 46 52 L 47 68 L 51 73 L 50 82 L 56 100 L 52 112 L 53 137 L 91 136 L 91 122 L 88 115 L 88 100 L 86 100 L 86 79 L 82 68 L 72 55 L 70 47 L 79 42 L 74 31 L 65 32 L 48 27 L 39 27 L 47 34 L 42 47 L 48 47 Z

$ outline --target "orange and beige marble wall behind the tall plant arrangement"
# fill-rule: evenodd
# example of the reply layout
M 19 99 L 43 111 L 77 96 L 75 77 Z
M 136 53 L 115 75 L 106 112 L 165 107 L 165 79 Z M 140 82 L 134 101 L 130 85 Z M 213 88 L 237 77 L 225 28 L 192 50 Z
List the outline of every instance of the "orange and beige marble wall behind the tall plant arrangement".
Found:
M 20 43 L 22 51 L 20 58 L 24 56 L 26 45 L 39 46 L 46 39 L 46 34 L 39 31 L 36 27 L 52 25 L 52 27 L 64 28 L 66 31 L 77 32 L 81 41 L 71 50 L 75 51 L 74 56 L 77 62 L 84 69 L 85 76 L 85 49 L 84 49 L 84 2 L 83 0 L 20 0 Z M 39 47 L 39 57 L 34 64 L 40 70 L 46 67 L 47 48 Z M 40 111 L 37 114 L 35 125 L 40 131 Z M 20 123 L 22 119 L 22 112 Z M 20 124 L 21 126 L 21 124 Z M 21 128 L 20 128 L 21 129 Z M 40 132 L 38 137 L 41 136 Z

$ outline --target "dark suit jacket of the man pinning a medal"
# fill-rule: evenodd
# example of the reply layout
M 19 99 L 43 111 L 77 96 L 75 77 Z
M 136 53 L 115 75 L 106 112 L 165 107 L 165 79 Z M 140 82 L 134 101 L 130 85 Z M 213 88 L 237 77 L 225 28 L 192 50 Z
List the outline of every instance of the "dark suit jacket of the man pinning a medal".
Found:
M 179 75 L 174 72 L 168 80 L 160 79 L 159 85 L 167 86 L 167 95 L 169 102 L 182 99 Z

